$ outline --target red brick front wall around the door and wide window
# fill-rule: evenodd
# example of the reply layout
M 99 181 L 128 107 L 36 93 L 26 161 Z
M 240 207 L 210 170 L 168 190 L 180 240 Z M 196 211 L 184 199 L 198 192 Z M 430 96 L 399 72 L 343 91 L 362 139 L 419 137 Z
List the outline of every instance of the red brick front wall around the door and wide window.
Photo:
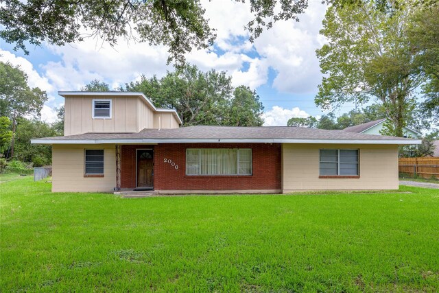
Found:
M 155 190 L 281 189 L 281 145 L 278 143 L 164 143 L 122 145 L 121 187 L 136 184 L 136 149 L 154 148 Z M 252 176 L 187 176 L 187 148 L 251 148 Z M 172 163 L 165 163 L 165 159 Z M 176 168 L 178 166 L 178 168 Z

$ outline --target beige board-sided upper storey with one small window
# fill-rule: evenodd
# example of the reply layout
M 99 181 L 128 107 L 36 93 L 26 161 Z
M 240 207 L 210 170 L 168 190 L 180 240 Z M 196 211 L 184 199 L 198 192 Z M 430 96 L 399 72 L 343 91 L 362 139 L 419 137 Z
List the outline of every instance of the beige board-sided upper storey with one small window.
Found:
M 139 132 L 178 128 L 176 110 L 156 108 L 143 93 L 60 91 L 64 97 L 64 135 L 86 132 Z

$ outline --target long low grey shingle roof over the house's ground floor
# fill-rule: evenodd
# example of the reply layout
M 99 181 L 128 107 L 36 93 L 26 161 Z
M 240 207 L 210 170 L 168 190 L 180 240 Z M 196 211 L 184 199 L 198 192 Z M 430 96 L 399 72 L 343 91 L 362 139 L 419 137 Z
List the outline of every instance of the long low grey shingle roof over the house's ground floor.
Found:
M 144 129 L 135 133 L 84 133 L 66 137 L 46 137 L 34 139 L 34 143 L 47 141 L 115 141 L 147 139 L 148 141 L 169 142 L 169 140 L 324 140 L 324 141 L 403 141 L 410 143 L 413 139 L 386 137 L 382 135 L 361 134 L 344 130 L 322 130 L 290 126 L 274 127 L 230 127 L 230 126 L 189 126 L 174 129 Z M 263 142 L 263 141 L 261 141 Z M 270 141 L 267 141 L 270 142 Z M 300 141 L 297 141 L 300 142 Z M 55 142 L 56 143 L 56 142 Z

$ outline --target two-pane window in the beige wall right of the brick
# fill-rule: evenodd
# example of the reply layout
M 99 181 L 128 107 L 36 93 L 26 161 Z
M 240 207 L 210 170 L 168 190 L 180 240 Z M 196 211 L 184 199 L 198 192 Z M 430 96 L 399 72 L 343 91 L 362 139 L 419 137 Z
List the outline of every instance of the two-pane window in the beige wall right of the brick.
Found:
M 320 176 L 358 174 L 358 150 L 320 150 Z

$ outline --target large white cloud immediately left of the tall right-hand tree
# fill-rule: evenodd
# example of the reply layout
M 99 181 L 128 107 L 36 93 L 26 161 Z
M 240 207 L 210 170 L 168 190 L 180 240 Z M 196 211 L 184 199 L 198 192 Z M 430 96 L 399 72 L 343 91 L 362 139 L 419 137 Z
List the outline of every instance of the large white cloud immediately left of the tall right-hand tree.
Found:
M 255 40 L 258 53 L 278 73 L 273 82 L 278 91 L 316 91 L 322 78 L 316 49 L 324 42 L 319 30 L 326 8 L 320 0 L 309 1 L 309 8 L 299 16 L 299 22 L 278 21 Z

